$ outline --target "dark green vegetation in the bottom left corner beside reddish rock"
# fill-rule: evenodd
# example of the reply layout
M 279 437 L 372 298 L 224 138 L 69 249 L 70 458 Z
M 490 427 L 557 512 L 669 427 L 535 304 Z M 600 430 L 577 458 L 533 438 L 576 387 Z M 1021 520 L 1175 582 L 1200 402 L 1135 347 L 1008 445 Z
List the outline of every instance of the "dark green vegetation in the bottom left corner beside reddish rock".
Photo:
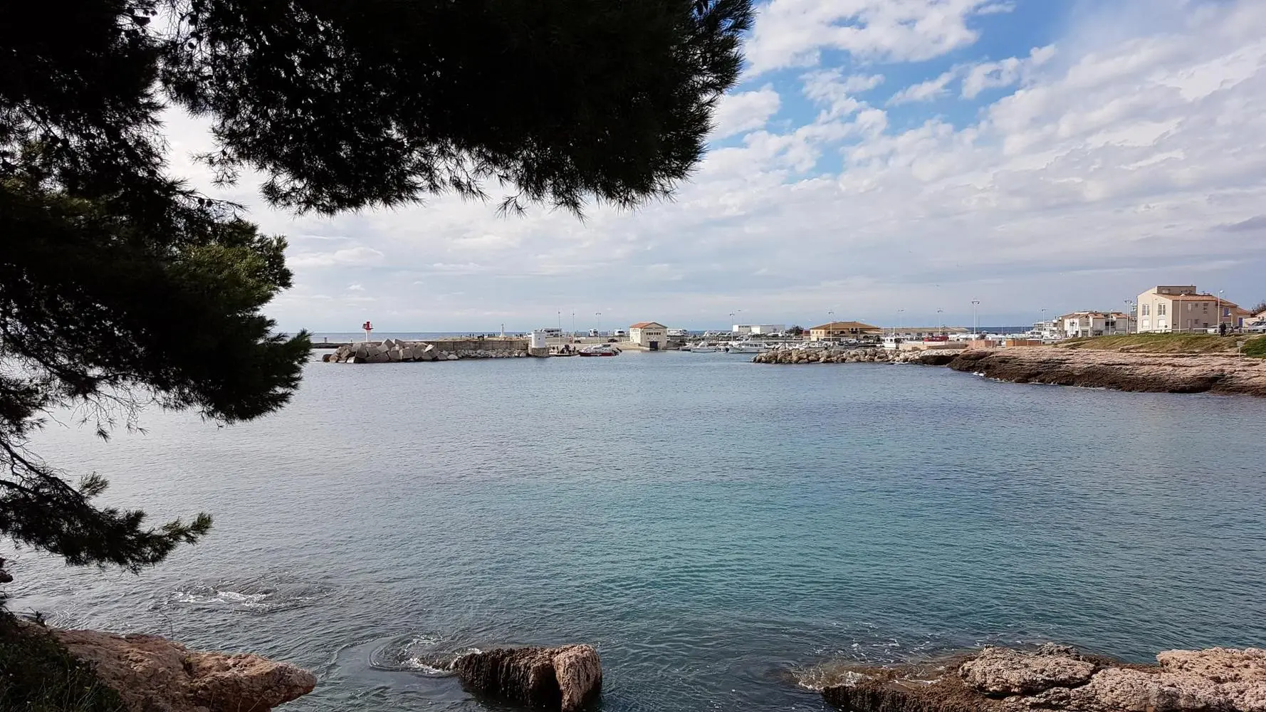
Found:
M 20 712 L 123 712 L 119 696 L 91 664 L 72 656 L 35 626 L 0 611 L 0 709 Z

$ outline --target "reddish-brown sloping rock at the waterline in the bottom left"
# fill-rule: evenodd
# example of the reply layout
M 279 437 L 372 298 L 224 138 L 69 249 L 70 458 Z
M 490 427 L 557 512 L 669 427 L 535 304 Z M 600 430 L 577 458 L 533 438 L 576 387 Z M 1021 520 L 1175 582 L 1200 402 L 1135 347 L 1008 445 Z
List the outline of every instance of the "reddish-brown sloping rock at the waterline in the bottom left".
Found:
M 158 636 L 30 632 L 54 636 L 71 655 L 91 663 L 127 712 L 267 712 L 316 685 L 315 675 L 286 663 L 189 650 Z

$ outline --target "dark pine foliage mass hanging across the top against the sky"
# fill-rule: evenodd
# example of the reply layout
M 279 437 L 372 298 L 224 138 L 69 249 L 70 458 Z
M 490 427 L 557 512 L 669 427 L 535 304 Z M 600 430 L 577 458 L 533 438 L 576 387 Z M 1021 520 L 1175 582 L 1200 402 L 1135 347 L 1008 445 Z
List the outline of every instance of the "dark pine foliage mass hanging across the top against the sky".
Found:
M 165 82 L 268 200 L 335 212 L 498 180 L 571 210 L 667 195 L 738 76 L 749 0 L 187 0 Z M 338 157 L 333 161 L 332 157 Z

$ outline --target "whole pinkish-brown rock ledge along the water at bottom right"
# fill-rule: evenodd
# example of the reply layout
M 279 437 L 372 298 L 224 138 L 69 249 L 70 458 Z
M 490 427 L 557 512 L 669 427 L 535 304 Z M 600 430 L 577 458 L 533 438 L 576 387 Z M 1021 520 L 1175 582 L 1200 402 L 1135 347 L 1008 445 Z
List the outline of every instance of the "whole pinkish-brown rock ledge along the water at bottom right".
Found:
M 836 666 L 823 698 L 853 712 L 1266 712 L 1266 651 L 1170 650 L 1132 665 L 1072 647 L 986 647 L 941 661 Z M 814 679 L 820 680 L 819 670 Z

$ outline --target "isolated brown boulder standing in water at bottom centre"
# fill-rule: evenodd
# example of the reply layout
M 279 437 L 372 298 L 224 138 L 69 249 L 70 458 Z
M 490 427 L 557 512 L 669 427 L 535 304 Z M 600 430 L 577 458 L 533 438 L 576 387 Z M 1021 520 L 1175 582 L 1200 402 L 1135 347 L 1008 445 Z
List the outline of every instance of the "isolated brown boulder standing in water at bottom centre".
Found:
M 453 669 L 473 690 L 562 712 L 580 709 L 603 687 L 601 661 L 589 645 L 472 652 L 460 658 Z

